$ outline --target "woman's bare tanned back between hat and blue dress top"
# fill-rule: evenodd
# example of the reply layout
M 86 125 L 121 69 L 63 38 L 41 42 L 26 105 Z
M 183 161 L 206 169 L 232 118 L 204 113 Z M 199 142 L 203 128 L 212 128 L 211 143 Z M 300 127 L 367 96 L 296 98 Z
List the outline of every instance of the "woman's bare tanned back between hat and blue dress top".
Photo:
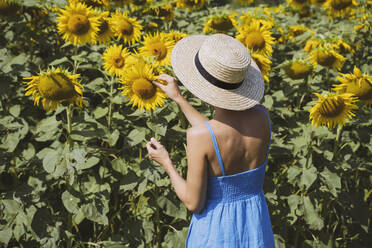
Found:
M 270 139 L 270 127 L 265 112 L 257 107 L 242 111 L 239 115 L 219 119 L 212 119 L 209 123 L 217 139 L 225 174 L 233 175 L 262 165 Z M 203 139 L 208 144 L 205 147 L 208 176 L 222 176 L 209 132 L 208 135 L 203 135 Z

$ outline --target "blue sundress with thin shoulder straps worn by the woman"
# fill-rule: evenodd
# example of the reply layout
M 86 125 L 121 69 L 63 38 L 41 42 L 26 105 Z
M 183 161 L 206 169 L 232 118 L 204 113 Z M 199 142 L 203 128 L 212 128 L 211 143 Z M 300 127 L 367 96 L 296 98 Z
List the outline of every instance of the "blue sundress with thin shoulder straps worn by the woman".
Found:
M 265 112 L 270 126 L 266 110 L 259 105 L 255 107 Z M 208 122 L 205 124 L 212 137 L 223 176 L 208 177 L 206 205 L 201 213 L 194 213 L 191 218 L 186 248 L 275 247 L 270 215 L 262 188 L 268 151 L 265 162 L 259 167 L 226 176 L 212 127 Z

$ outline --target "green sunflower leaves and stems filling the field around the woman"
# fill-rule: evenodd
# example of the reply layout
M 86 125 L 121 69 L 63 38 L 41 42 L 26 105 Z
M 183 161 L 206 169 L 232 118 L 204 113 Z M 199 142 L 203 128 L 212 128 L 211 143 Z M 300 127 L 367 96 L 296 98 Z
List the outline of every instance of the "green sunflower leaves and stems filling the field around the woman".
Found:
M 237 1 L 210 1 L 200 10 L 176 8 L 169 23 L 140 9 L 133 15 L 156 23 L 158 30 L 196 34 L 212 8 L 241 13 L 271 3 L 265 10 L 270 11 L 278 2 L 242 7 Z M 287 40 L 279 31 L 302 25 L 323 38 L 341 37 L 355 49 L 343 53 L 341 72 L 357 66 L 370 74 L 372 37 L 368 25 L 361 26 L 368 22 L 370 4 L 358 1 L 367 13 L 357 11 L 352 19 L 329 19 L 321 7 L 298 11 L 280 2 L 284 10 L 275 13 L 273 70 L 262 102 L 272 121 L 264 191 L 276 247 L 368 247 L 370 109 L 358 103 L 356 117 L 338 130 L 311 126 L 312 92 L 330 90 L 338 74 L 318 66 L 304 80 L 286 77 L 281 65 L 301 58 L 310 34 Z M 0 15 L 0 246 L 183 247 L 191 213 L 145 149 L 150 137 L 161 139 L 185 176 L 188 123 L 182 112 L 171 101 L 154 112 L 131 108 L 117 90 L 118 80 L 102 69 L 106 46 L 74 47 L 58 34 L 53 10 L 64 0 L 19 3 L 17 14 Z M 150 31 L 153 25 L 145 25 L 144 32 Z M 24 96 L 23 77 L 52 65 L 81 74 L 84 107 L 45 112 Z M 193 106 L 213 116 L 210 106 L 181 88 Z

